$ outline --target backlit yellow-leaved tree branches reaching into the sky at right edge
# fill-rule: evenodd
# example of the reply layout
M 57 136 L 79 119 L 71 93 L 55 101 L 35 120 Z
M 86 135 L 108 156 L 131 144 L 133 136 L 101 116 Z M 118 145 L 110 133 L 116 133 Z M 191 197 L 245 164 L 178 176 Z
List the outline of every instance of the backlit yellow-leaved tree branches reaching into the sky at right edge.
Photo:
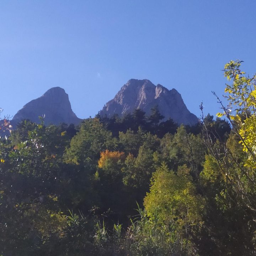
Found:
M 234 182 L 239 188 L 247 207 L 253 209 L 256 213 L 255 194 L 256 180 L 256 75 L 250 77 L 244 71 L 241 71 L 242 61 L 231 60 L 224 66 L 224 76 L 231 84 L 226 84 L 225 92 L 228 94 L 225 98 L 229 104 L 222 106 L 223 113 L 217 113 L 218 117 L 225 116 L 231 123 L 233 133 L 242 145 L 244 151 L 244 162 L 236 161 L 228 145 L 225 145 L 224 151 L 229 161 L 235 164 L 236 172 L 225 171 L 225 176 L 230 182 Z M 223 166 L 223 165 L 222 165 Z

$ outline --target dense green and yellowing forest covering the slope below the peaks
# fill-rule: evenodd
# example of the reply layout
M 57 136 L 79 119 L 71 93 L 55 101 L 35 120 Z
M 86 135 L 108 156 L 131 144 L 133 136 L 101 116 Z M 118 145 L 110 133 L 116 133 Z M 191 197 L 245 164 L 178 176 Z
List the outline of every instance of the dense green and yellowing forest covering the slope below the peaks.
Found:
M 228 107 L 215 95 L 222 113 L 201 105 L 193 127 L 157 107 L 21 122 L 0 141 L 0 255 L 256 255 L 256 76 L 240 65 Z

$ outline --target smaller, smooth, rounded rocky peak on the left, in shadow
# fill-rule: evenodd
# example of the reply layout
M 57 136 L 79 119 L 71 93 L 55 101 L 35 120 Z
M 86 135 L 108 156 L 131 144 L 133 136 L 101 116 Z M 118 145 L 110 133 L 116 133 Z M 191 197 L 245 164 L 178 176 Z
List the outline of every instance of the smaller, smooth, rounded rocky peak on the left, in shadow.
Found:
M 41 97 L 28 102 L 15 114 L 11 123 L 17 124 L 23 119 L 39 123 L 39 116 L 45 116 L 44 123 L 46 125 L 79 124 L 82 121 L 72 111 L 68 94 L 60 87 L 53 87 Z

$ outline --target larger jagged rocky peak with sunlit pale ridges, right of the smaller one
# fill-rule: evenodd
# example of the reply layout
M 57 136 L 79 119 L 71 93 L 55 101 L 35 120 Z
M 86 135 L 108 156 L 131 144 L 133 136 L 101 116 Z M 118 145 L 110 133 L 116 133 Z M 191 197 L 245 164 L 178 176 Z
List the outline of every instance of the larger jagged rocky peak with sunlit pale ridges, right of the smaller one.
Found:
M 196 124 L 198 118 L 188 111 L 181 95 L 175 90 L 168 90 L 164 86 L 154 85 L 147 79 L 130 79 L 113 100 L 108 101 L 99 112 L 101 116 L 111 117 L 113 114 L 122 116 L 141 109 L 150 114 L 151 108 L 158 105 L 160 113 L 177 124 Z

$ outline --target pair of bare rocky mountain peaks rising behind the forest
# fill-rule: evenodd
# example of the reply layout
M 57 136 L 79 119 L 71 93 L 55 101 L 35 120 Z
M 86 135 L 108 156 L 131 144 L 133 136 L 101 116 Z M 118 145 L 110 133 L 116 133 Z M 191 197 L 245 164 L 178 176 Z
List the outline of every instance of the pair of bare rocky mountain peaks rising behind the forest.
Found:
M 193 125 L 198 122 L 198 118 L 188 111 L 177 90 L 168 90 L 160 84 L 155 86 L 147 79 L 130 79 L 99 114 L 102 117 L 111 117 L 113 114 L 122 117 L 135 109 L 141 109 L 149 115 L 154 106 L 158 106 L 159 112 L 164 116 L 162 121 L 171 118 L 177 124 Z M 28 102 L 14 115 L 11 125 L 15 128 L 23 119 L 39 123 L 39 116 L 44 117 L 46 125 L 79 124 L 82 121 L 72 111 L 68 94 L 60 87 L 53 87 L 41 97 Z

